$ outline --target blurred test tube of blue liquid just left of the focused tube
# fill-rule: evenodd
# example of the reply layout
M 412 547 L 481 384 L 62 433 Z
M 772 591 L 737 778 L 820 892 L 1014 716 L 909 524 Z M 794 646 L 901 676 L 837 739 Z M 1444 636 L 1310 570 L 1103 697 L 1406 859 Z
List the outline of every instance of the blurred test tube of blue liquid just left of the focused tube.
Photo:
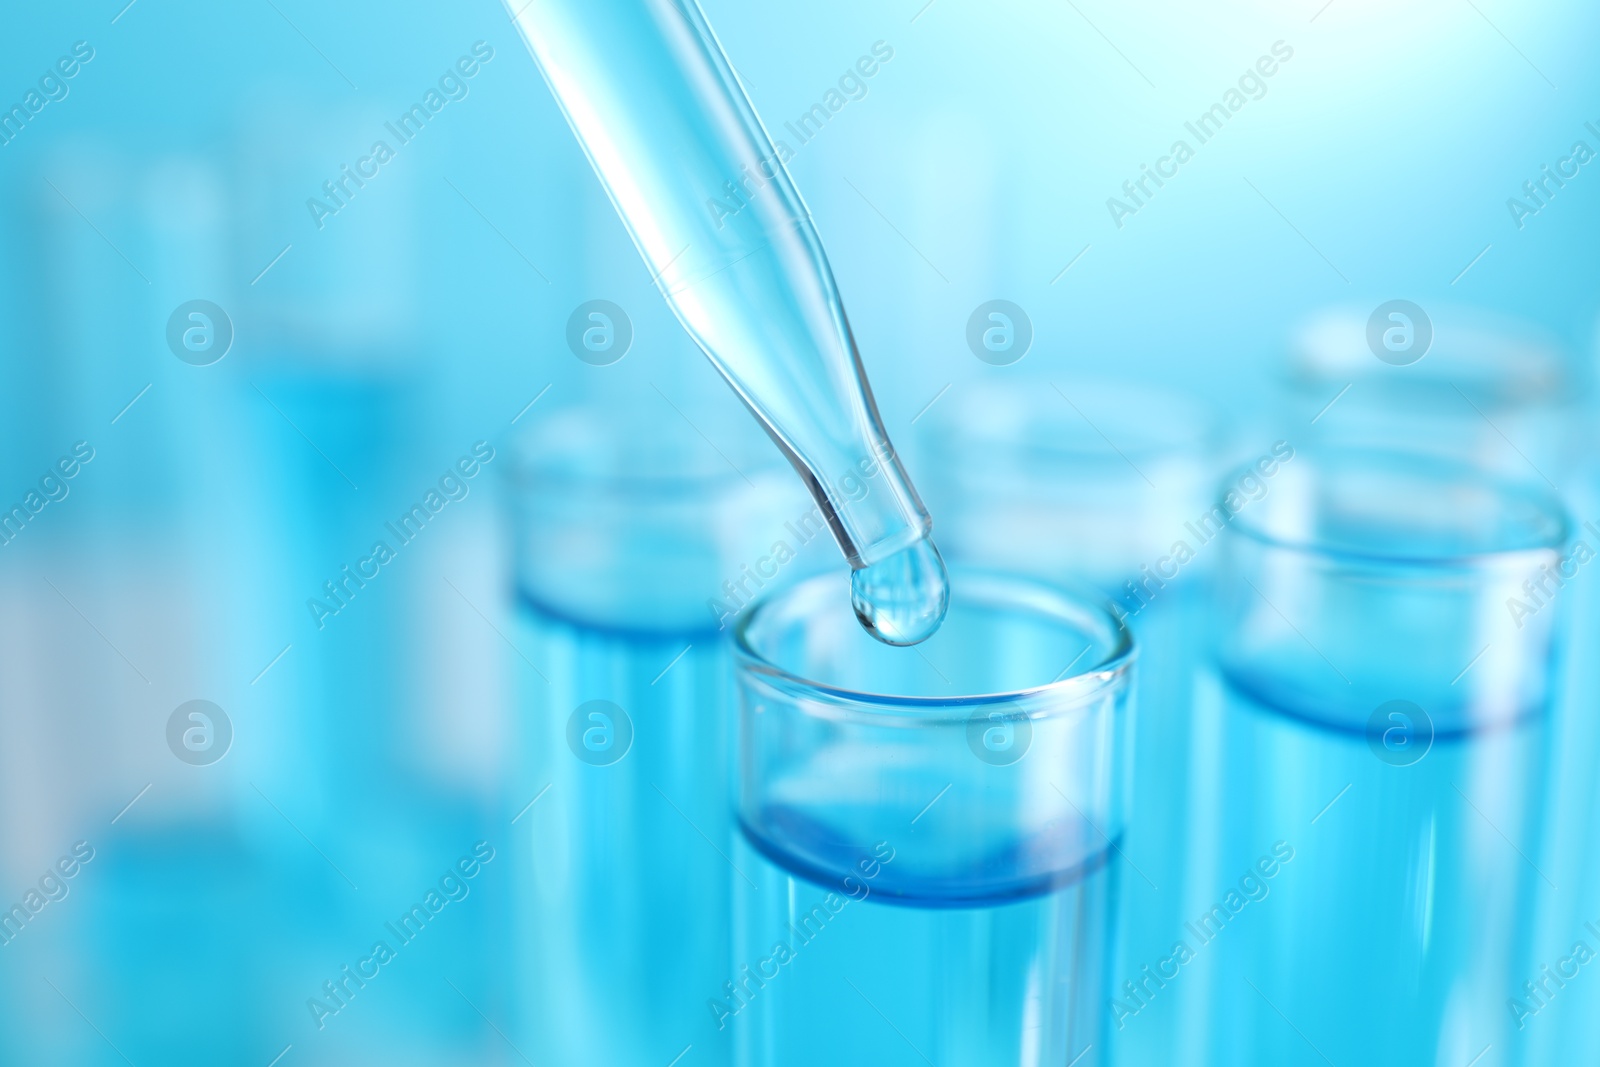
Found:
M 773 571 L 778 517 L 803 499 L 781 464 L 725 443 L 741 475 L 686 427 L 637 424 L 554 411 L 514 458 L 514 1040 L 541 1064 L 667 1064 L 698 1043 L 731 952 L 731 622 L 709 603 Z

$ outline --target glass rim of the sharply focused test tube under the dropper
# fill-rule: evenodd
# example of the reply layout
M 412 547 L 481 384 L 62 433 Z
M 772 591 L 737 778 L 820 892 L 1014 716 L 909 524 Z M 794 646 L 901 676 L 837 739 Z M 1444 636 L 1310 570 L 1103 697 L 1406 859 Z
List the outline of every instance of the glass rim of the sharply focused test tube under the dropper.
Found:
M 1091 702 L 1101 699 L 1106 691 L 1114 689 L 1125 675 L 1133 672 L 1139 654 L 1133 632 L 1099 590 L 1075 582 L 1046 582 L 1006 571 L 960 566 L 952 568 L 952 582 L 958 582 L 962 590 L 968 593 L 1005 587 L 1034 601 L 1027 605 L 1019 598 L 1010 601 L 1013 606 L 1040 609 L 1043 601 L 1053 600 L 1058 605 L 1069 605 L 1077 614 L 1094 616 L 1096 622 L 1107 630 L 1107 651 L 1096 662 L 1077 670 L 1070 677 L 997 693 L 910 696 L 869 693 L 848 686 L 827 685 L 774 664 L 750 643 L 750 629 L 773 606 L 795 597 L 835 598 L 838 595 L 837 576 L 818 574 L 762 597 L 741 616 L 733 629 L 736 665 L 739 670 L 760 677 L 763 683 L 779 689 L 784 696 L 826 705 L 834 710 L 845 710 L 851 718 L 861 721 L 877 721 L 890 726 L 938 726 L 965 721 L 971 709 L 995 704 L 1018 707 L 1030 720 L 1062 718 L 1075 715 Z M 910 653 L 912 649 L 904 651 Z M 962 713 L 958 717 L 938 715 L 938 712 L 949 712 L 950 709 L 962 709 Z

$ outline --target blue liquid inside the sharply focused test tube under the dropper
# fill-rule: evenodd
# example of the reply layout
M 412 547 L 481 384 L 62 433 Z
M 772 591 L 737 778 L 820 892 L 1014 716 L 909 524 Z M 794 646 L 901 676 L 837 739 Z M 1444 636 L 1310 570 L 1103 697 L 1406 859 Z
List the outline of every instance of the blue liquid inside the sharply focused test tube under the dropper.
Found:
M 910 849 L 893 841 L 850 845 L 814 824 L 765 822 L 821 837 L 739 838 L 734 861 L 749 881 L 736 881 L 734 957 L 706 992 L 736 1062 L 1061 1067 L 1085 1049 L 1075 1067 L 1104 1062 L 1110 849 L 1056 872 L 1056 888 L 1019 896 L 997 865 L 965 885 L 920 883 L 906 869 Z M 906 837 L 918 832 L 930 829 Z M 824 873 L 819 856 L 838 867 Z

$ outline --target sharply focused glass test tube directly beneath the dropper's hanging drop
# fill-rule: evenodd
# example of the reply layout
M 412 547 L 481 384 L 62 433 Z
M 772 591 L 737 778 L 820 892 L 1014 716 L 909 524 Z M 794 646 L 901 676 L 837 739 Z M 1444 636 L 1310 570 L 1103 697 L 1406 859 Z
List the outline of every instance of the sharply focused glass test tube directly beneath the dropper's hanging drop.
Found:
M 1099 1064 L 1134 649 L 1098 595 L 957 571 L 920 656 L 835 576 L 734 632 L 734 955 L 749 1067 Z

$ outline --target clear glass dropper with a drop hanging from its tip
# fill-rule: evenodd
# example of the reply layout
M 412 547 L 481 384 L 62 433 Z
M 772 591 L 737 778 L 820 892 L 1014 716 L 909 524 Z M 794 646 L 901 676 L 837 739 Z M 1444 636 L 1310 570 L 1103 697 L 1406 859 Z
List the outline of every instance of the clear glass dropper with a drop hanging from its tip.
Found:
M 787 146 L 706 16 L 694 0 L 506 3 L 656 286 L 864 574 L 862 622 L 922 640 L 946 597 L 928 512 L 872 400 Z

